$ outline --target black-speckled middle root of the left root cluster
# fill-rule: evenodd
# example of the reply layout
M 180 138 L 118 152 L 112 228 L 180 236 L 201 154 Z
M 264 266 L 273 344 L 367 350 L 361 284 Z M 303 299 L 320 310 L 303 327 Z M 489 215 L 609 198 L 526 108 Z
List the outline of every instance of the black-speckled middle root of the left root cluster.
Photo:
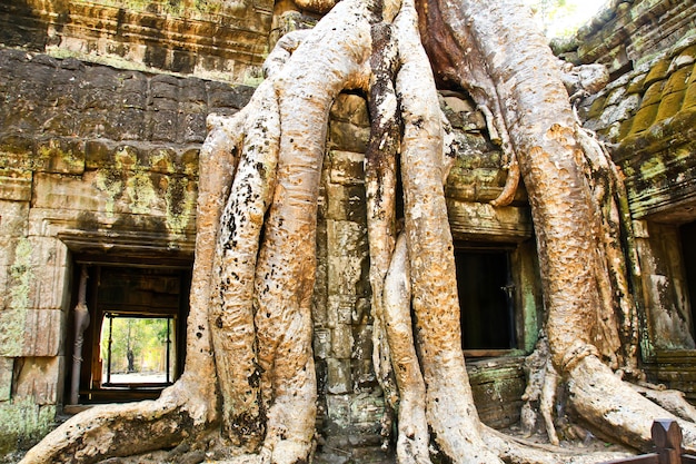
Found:
M 269 82 L 257 89 L 248 108 L 255 116 L 243 125 L 242 157 L 219 219 L 209 318 L 216 327 L 212 342 L 219 359 L 225 433 L 235 446 L 253 451 L 264 440 L 266 417 L 259 401 L 251 302 L 259 237 L 275 188 L 280 138 L 278 103 Z

